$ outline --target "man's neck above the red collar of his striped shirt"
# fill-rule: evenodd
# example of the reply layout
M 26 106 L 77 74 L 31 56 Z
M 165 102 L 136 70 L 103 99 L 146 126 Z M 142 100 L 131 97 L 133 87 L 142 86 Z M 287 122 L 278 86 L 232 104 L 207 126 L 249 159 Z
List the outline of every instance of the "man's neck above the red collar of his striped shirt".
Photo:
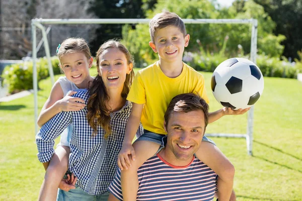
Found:
M 175 157 L 175 155 L 173 153 L 171 153 L 166 147 L 163 148 L 158 155 L 165 160 L 166 162 L 168 162 L 169 164 L 171 164 L 172 166 L 176 166 L 176 167 L 184 167 L 184 166 L 188 166 L 190 165 L 190 163 L 192 162 L 194 156 L 192 156 L 190 159 L 188 160 L 179 160 L 178 158 Z

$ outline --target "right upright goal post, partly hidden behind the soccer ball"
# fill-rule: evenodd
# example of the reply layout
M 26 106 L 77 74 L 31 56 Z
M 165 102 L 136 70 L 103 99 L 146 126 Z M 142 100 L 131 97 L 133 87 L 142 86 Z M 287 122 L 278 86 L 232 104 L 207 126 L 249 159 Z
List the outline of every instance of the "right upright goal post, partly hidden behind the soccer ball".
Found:
M 251 61 L 256 64 L 257 56 L 257 27 L 258 21 L 252 21 L 252 36 L 251 36 Z M 253 129 L 254 129 L 254 106 L 251 107 L 248 113 L 248 128 L 247 128 L 247 149 L 250 156 L 253 155 Z

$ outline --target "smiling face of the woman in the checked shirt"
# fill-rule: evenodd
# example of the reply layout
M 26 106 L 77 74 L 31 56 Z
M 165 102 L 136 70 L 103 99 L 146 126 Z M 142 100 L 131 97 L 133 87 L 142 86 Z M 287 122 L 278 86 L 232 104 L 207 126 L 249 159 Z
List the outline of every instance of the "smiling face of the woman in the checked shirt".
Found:
M 123 89 L 126 74 L 130 74 L 133 64 L 128 64 L 125 54 L 117 48 L 105 50 L 99 58 L 99 75 L 107 90 Z

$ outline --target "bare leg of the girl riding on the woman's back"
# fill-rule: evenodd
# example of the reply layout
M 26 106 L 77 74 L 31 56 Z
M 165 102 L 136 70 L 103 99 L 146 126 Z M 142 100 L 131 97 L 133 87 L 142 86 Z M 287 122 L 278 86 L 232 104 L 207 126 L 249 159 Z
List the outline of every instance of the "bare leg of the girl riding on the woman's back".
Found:
M 70 148 L 67 146 L 55 149 L 40 188 L 39 200 L 56 200 L 58 186 L 68 169 L 69 153 Z

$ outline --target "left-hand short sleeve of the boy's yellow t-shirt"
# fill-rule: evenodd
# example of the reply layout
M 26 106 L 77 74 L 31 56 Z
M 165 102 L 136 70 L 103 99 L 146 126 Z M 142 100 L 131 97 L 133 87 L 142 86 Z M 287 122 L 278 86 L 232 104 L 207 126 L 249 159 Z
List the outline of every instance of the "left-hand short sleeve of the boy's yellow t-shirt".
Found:
M 142 81 L 140 72 L 138 71 L 134 77 L 133 83 L 127 96 L 127 100 L 135 104 L 146 103 L 145 86 Z

